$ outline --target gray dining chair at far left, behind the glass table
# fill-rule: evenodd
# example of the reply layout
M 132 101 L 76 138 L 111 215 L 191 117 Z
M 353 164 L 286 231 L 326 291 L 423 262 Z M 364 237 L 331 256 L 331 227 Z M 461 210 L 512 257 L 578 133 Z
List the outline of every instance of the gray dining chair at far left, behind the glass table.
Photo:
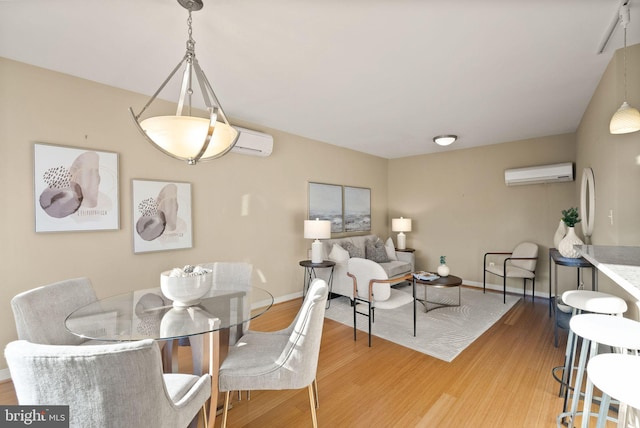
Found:
M 11 299 L 18 339 L 47 345 L 81 345 L 86 339 L 64 326 L 74 310 L 97 300 L 88 278 L 74 278 L 24 291 Z

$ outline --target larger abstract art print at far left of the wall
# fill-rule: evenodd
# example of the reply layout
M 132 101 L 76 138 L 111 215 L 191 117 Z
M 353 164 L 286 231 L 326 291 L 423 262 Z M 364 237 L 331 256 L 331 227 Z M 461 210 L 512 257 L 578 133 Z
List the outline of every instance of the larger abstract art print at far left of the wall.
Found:
M 36 232 L 118 230 L 118 154 L 33 145 Z

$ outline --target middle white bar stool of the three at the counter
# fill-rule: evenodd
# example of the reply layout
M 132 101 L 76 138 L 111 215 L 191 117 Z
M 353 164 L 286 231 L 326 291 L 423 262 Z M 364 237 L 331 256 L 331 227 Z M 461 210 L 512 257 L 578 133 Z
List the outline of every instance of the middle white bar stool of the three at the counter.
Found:
M 610 346 L 621 354 L 629 351 L 637 354 L 640 350 L 640 322 L 603 314 L 581 314 L 573 317 L 570 325 L 574 335 L 582 338 L 582 348 L 573 384 L 571 411 L 558 415 L 558 426 L 565 417 L 569 417 L 569 427 L 573 426 L 575 416 L 578 414 L 580 389 L 587 361 L 596 356 L 598 345 Z M 587 383 L 585 396 L 589 396 L 591 400 L 592 395 L 593 385 Z M 583 418 L 585 417 L 588 419 L 589 415 L 583 415 Z

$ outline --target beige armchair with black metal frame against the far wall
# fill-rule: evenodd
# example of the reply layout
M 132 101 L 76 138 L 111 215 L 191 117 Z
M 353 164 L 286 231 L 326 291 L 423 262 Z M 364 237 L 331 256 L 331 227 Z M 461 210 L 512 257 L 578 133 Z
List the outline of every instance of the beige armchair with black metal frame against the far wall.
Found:
M 491 257 L 504 257 L 500 263 L 492 262 Z M 507 278 L 522 278 L 522 294 L 526 296 L 527 279 L 531 280 L 531 300 L 536 294 L 536 264 L 538 262 L 538 245 L 533 242 L 521 242 L 512 252 L 491 252 L 484 254 L 484 273 L 482 275 L 482 292 L 487 289 L 487 272 L 502 278 L 503 301 L 507 303 Z

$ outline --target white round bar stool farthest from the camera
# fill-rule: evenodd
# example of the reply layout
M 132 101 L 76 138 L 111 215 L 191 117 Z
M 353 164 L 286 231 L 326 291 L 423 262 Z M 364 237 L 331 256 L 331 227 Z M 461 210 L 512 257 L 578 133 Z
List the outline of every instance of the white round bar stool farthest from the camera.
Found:
M 617 315 L 621 317 L 622 314 L 627 311 L 627 302 L 625 302 L 622 298 L 600 291 L 565 291 L 564 293 L 562 293 L 562 301 L 572 308 L 571 318 L 583 312 Z M 568 407 L 568 386 L 571 385 L 571 380 L 573 378 L 573 367 L 575 367 L 577 343 L 578 337 L 570 328 L 569 335 L 567 336 L 567 348 L 565 350 L 564 365 L 554 367 L 552 369 L 552 375 L 554 379 L 560 382 L 559 396 L 564 397 L 562 404 L 562 413 L 565 413 Z M 558 370 L 562 370 L 562 378 L 560 378 L 556 374 Z

